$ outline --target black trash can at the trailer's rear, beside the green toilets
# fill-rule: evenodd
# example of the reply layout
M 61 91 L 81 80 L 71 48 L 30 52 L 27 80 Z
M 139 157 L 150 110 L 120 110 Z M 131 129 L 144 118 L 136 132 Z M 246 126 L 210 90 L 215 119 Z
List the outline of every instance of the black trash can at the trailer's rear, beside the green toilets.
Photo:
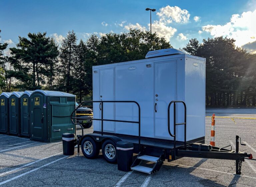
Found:
M 75 150 L 75 134 L 63 133 L 62 145 L 64 155 L 74 155 Z

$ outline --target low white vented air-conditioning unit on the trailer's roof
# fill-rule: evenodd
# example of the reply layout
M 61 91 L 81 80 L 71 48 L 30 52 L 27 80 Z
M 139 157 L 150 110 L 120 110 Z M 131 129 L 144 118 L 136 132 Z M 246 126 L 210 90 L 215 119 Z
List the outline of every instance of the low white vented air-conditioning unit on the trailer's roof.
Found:
M 186 54 L 184 51 L 178 49 L 160 49 L 155 51 L 149 51 L 146 55 L 146 59 L 153 58 L 153 57 L 163 57 L 169 55 L 178 55 L 178 54 Z

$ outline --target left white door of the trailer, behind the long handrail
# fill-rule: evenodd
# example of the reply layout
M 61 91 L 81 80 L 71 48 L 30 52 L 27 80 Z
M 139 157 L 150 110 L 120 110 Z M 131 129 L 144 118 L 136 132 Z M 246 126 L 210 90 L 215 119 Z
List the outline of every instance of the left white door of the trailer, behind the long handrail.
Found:
M 99 100 L 115 100 L 115 92 L 114 92 L 114 68 L 101 69 L 100 73 L 100 95 Z M 101 117 L 101 109 L 100 105 L 100 117 Z M 103 103 L 103 119 L 114 119 L 115 103 Z M 101 122 L 100 122 L 100 130 L 101 130 Z M 113 121 L 104 121 L 103 122 L 103 131 L 115 131 L 115 122 Z

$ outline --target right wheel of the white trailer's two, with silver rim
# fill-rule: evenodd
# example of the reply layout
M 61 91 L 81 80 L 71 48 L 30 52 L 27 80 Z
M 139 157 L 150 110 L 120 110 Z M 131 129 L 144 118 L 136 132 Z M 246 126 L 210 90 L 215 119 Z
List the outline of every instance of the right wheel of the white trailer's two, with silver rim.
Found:
M 111 164 L 117 163 L 116 143 L 113 140 L 106 140 L 102 144 L 102 154 L 105 160 Z

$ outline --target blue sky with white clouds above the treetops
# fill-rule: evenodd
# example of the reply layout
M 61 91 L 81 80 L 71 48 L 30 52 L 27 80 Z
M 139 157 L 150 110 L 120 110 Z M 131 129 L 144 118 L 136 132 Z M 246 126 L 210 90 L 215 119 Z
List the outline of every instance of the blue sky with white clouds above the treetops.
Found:
M 129 28 L 150 30 L 184 47 L 191 38 L 226 36 L 235 45 L 256 53 L 256 0 L 1 0 L 0 43 L 10 47 L 18 36 L 47 32 L 61 44 L 67 32 L 86 41 L 91 34 L 128 32 Z

